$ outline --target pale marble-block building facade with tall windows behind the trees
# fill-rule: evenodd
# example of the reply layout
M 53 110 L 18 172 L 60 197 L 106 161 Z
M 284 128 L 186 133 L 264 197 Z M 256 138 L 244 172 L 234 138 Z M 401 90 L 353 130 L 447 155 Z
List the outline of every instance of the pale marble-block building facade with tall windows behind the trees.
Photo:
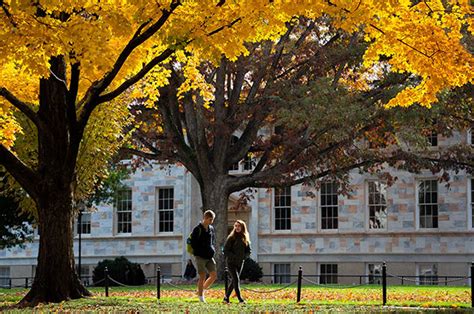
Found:
M 471 133 L 438 137 L 436 145 L 472 144 Z M 251 170 L 243 161 L 231 173 Z M 377 283 L 382 262 L 405 284 L 469 284 L 474 261 L 474 179 L 452 173 L 449 184 L 432 173 L 391 171 L 393 185 L 368 174 L 351 173 L 351 191 L 335 183 L 319 190 L 296 185 L 256 189 L 247 206 L 236 210 L 230 198 L 229 226 L 248 222 L 252 258 L 264 280 L 290 283 L 298 268 L 318 283 Z M 147 276 L 159 266 L 165 276 L 180 276 L 189 258 L 185 241 L 201 219 L 199 186 L 182 166 L 146 166 L 124 182 L 112 205 L 99 206 L 75 224 L 74 249 L 81 274 L 91 276 L 103 259 L 125 256 Z M 25 248 L 0 251 L 0 286 L 22 285 L 32 277 L 38 238 Z M 76 259 L 76 263 L 77 263 Z M 459 280 L 454 277 L 459 276 Z M 311 277 L 308 277 L 311 278 Z M 389 283 L 402 279 L 391 277 Z

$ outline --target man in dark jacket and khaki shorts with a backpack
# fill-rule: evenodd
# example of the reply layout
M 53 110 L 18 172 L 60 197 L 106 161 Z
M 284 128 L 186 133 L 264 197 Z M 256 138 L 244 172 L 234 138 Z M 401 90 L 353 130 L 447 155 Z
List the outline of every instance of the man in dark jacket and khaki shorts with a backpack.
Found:
M 204 290 L 208 289 L 217 278 L 216 261 L 214 260 L 215 233 L 214 227 L 211 226 L 215 217 L 216 214 L 212 210 L 206 210 L 202 221 L 194 227 L 191 235 L 191 246 L 199 274 L 197 286 L 200 302 L 206 302 Z M 207 280 L 206 273 L 209 274 Z

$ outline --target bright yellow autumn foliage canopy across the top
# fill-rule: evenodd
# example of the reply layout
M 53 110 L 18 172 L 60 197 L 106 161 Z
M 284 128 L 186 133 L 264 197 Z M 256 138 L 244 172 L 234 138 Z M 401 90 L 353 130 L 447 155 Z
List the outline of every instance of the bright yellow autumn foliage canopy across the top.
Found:
M 415 102 L 429 106 L 440 90 L 473 79 L 473 57 L 461 43 L 462 30 L 473 30 L 472 7 L 467 0 L 420 1 L 416 5 L 410 0 L 4 0 L 0 10 L 0 89 L 35 110 L 39 79 L 54 75 L 48 62 L 51 56 L 62 55 L 67 64 L 80 64 L 78 99 L 82 99 L 93 82 L 113 69 L 137 30 L 151 31 L 150 26 L 164 10 L 174 5 L 176 9 L 164 25 L 133 50 L 107 91 L 116 89 L 166 49 L 206 60 L 216 60 L 222 54 L 234 59 L 247 52 L 245 41 L 276 39 L 285 23 L 300 15 L 327 15 L 342 30 L 362 29 L 370 42 L 366 66 L 379 62 L 380 55 L 389 56 L 393 71 L 421 78 L 419 85 L 393 98 L 390 106 Z M 188 66 L 198 63 L 193 60 Z M 195 71 L 186 71 L 188 78 L 199 79 Z M 147 84 L 151 97 L 159 96 L 156 87 L 167 83 L 167 75 L 157 68 L 145 77 L 155 80 Z M 193 83 L 186 88 L 193 88 Z M 204 91 L 204 98 L 208 95 Z M 78 102 L 78 113 L 80 105 Z M 0 97 L 0 143 L 6 147 L 12 146 L 19 130 L 12 110 Z

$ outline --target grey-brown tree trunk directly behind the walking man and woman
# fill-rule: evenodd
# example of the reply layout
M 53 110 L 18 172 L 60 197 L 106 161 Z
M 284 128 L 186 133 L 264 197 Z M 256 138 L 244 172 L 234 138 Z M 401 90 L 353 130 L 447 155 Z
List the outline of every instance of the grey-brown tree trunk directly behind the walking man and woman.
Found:
M 214 219 L 214 229 L 216 231 L 216 254 L 214 258 L 217 263 L 218 278 L 223 278 L 225 260 L 224 260 L 224 243 L 227 239 L 227 206 L 230 193 L 219 180 L 214 184 L 201 186 L 201 198 L 203 210 L 212 210 L 216 213 Z

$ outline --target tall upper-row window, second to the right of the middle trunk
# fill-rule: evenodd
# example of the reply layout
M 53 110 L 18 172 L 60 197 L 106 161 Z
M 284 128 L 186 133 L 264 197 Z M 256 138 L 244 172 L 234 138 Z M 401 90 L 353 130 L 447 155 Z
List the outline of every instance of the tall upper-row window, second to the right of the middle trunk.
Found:
M 321 229 L 338 228 L 337 184 L 324 182 L 321 185 Z

